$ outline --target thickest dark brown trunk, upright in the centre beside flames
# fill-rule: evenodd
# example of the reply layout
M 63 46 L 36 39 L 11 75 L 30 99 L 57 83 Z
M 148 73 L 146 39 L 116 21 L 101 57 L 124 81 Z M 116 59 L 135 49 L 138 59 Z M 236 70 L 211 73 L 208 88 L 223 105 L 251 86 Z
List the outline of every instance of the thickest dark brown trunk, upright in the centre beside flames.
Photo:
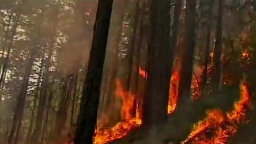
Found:
M 167 120 L 172 69 L 170 44 L 170 0 L 151 1 L 151 39 L 148 49 L 144 126 Z

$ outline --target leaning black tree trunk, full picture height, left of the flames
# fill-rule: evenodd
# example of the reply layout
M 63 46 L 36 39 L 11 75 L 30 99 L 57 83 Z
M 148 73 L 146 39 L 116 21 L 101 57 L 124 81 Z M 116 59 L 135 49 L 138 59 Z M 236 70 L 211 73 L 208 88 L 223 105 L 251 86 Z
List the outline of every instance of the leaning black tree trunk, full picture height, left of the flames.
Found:
M 106 54 L 113 0 L 99 0 L 88 72 L 74 144 L 92 144 L 97 120 L 101 77 Z

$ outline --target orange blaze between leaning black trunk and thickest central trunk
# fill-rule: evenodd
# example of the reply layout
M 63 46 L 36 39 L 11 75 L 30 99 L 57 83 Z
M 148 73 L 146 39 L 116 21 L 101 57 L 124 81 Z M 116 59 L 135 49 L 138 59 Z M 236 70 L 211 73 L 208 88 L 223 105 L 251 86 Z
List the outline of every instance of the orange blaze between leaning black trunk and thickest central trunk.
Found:
M 122 83 L 119 79 L 115 81 L 116 90 L 115 96 L 122 99 L 121 118 L 116 126 L 111 128 L 96 130 L 94 137 L 94 144 L 108 144 L 114 140 L 118 140 L 127 136 L 132 130 L 141 125 L 139 114 L 132 115 L 133 112 L 138 113 L 134 106 L 134 99 L 137 97 L 129 91 L 124 90 Z

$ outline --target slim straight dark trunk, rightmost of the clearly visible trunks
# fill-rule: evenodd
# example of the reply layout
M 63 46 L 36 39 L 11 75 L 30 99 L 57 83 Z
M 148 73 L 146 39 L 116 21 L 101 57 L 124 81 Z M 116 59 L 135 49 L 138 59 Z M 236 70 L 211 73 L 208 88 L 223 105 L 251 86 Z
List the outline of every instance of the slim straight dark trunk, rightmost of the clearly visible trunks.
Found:
M 219 16 L 216 27 L 216 41 L 213 54 L 213 77 L 212 81 L 215 89 L 221 87 L 221 53 L 222 53 L 222 21 L 223 21 L 223 6 L 224 0 L 219 0 Z

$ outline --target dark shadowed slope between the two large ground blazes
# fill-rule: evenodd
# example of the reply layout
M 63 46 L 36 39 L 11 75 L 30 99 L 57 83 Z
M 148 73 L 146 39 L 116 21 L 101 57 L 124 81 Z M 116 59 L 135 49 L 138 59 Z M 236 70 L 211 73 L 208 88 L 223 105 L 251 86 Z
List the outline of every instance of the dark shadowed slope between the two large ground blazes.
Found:
M 191 133 L 193 125 L 207 116 L 207 111 L 221 109 L 226 112 L 232 109 L 239 99 L 239 89 L 225 89 L 196 102 L 189 97 L 183 98 L 186 99 L 180 99 L 179 107 L 169 115 L 166 123 L 150 129 L 139 127 L 111 144 L 180 144 Z

